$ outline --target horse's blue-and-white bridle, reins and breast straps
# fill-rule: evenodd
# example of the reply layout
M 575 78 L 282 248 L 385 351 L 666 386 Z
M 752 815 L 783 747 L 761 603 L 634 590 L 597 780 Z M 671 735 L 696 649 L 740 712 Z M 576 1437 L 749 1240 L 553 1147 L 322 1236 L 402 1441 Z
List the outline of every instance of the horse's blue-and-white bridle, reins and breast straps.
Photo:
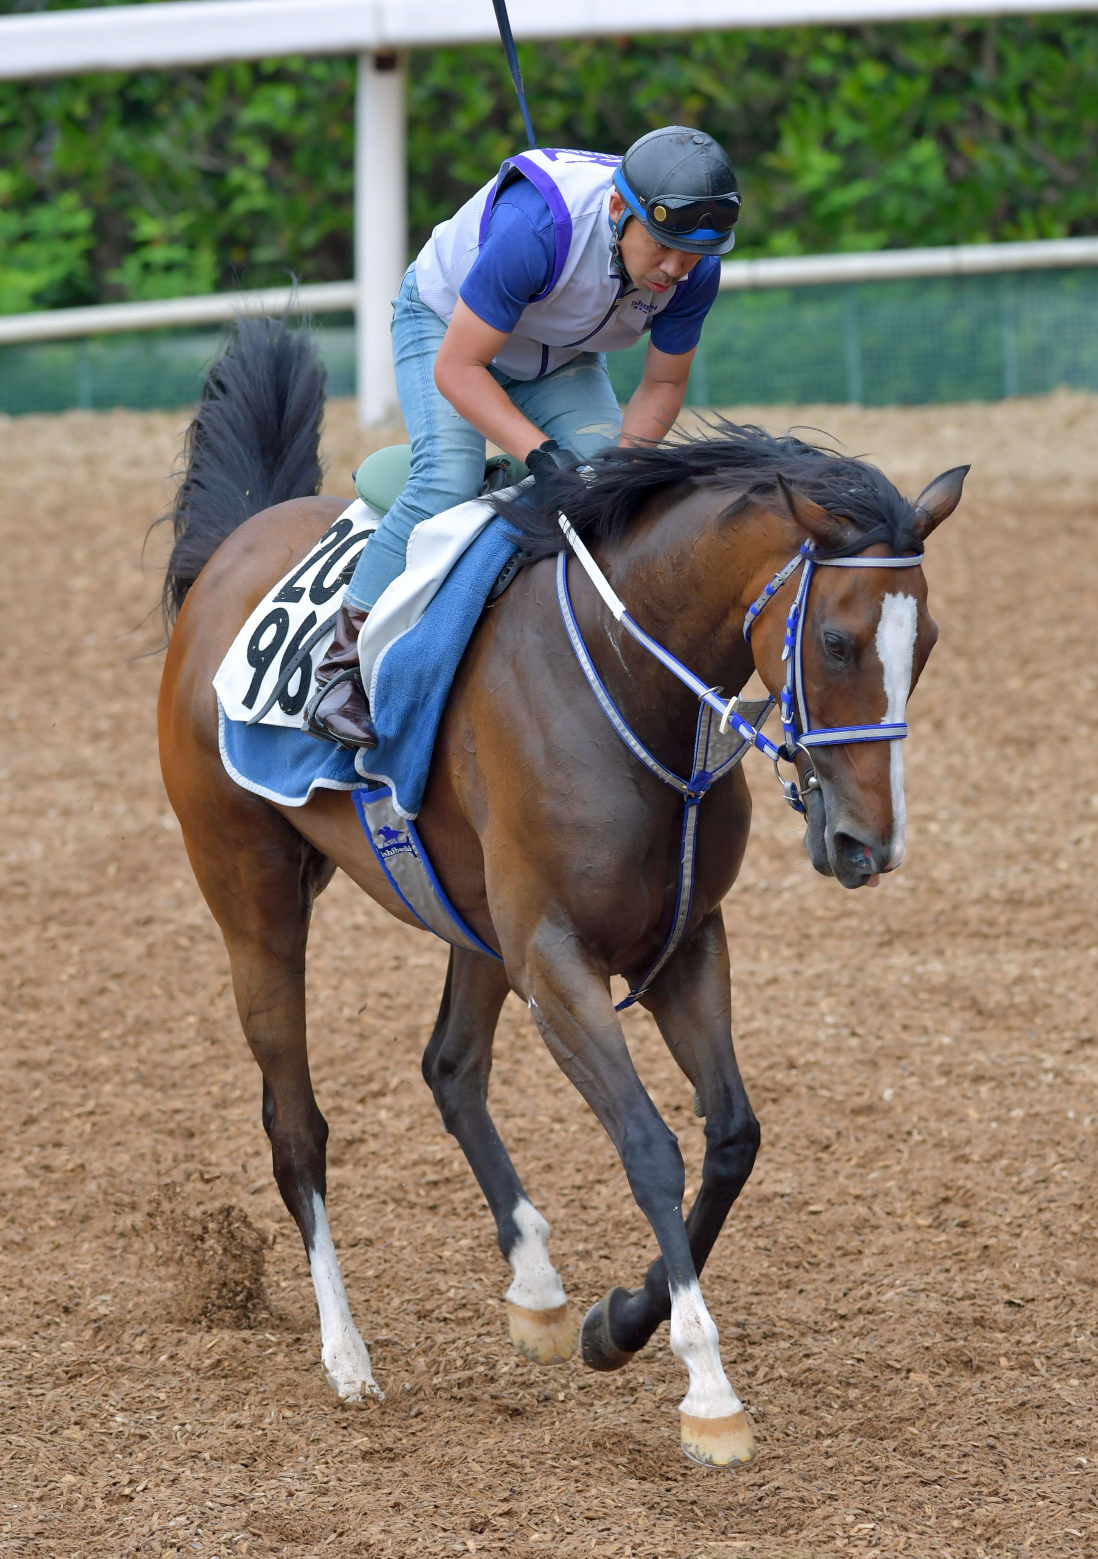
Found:
M 655 963 L 649 968 L 638 985 L 630 988 L 629 996 L 618 1002 L 618 1010 L 624 1007 L 632 1007 L 632 1004 L 644 995 L 655 976 L 664 967 L 671 954 L 675 951 L 683 939 L 686 924 L 689 921 L 689 909 L 694 887 L 694 854 L 697 847 L 697 808 L 702 797 L 707 795 L 710 787 L 724 775 L 730 773 L 744 758 L 744 755 L 752 748 L 758 748 L 766 758 L 774 764 L 774 772 L 778 775 L 780 762 L 792 762 L 797 751 L 811 753 L 814 747 L 842 747 L 847 742 L 897 742 L 903 741 L 908 734 L 908 725 L 903 720 L 880 720 L 873 725 L 824 725 L 813 726 L 808 717 L 808 705 L 805 700 L 805 675 L 803 675 L 803 636 L 805 636 L 805 617 L 808 603 L 808 589 L 813 582 L 813 572 L 817 567 L 834 567 L 834 569 L 908 569 L 919 567 L 922 564 L 922 553 L 912 553 L 909 557 L 895 558 L 866 558 L 866 557 L 850 557 L 850 558 L 820 558 L 816 555 L 814 543 L 806 541 L 800 550 L 792 557 L 778 572 L 774 575 L 766 589 L 752 602 L 747 608 L 744 617 L 744 639 L 750 645 L 752 625 L 755 619 L 763 611 L 766 603 L 781 589 L 781 586 L 792 578 L 797 569 L 802 571 L 800 580 L 797 582 L 797 591 L 794 594 L 792 603 L 786 614 L 786 633 L 785 644 L 781 649 L 781 659 L 785 661 L 786 675 L 781 686 L 781 695 L 778 700 L 778 714 L 781 719 L 781 733 L 785 741 L 781 745 L 775 745 L 767 736 L 763 734 L 761 726 L 766 722 L 767 714 L 774 708 L 775 700 L 767 697 L 763 700 L 746 700 L 739 697 L 721 698 L 717 697 L 719 688 L 710 688 L 696 677 L 694 672 L 683 666 L 683 663 L 666 650 L 657 639 L 641 628 L 641 625 L 630 617 L 625 603 L 615 592 L 610 580 L 602 572 L 599 564 L 594 561 L 588 552 L 585 543 L 580 539 L 576 529 L 569 524 L 565 514 L 558 514 L 558 524 L 576 555 L 576 561 L 580 564 L 586 577 L 594 585 L 604 605 L 610 611 L 611 617 L 625 628 L 625 631 L 636 639 L 661 666 L 664 666 L 674 677 L 678 678 L 683 686 L 697 697 L 700 709 L 697 714 L 697 731 L 694 736 L 694 762 L 691 769 L 689 780 L 683 780 L 680 775 L 674 773 L 671 769 L 664 767 L 653 758 L 647 747 L 641 742 L 636 733 L 630 728 L 629 722 L 622 716 L 621 709 L 615 705 L 613 698 L 607 692 L 607 688 L 599 677 L 594 663 L 588 653 L 586 644 L 580 633 L 579 624 L 576 620 L 576 613 L 572 611 L 572 602 L 568 591 L 568 553 L 557 553 L 557 599 L 560 602 L 560 614 L 565 620 L 565 628 L 568 631 L 569 642 L 576 652 L 576 658 L 580 663 L 580 669 L 599 702 L 602 712 L 610 720 L 611 726 L 622 739 L 625 747 L 633 753 L 644 767 L 661 780 L 663 784 L 671 786 L 683 798 L 683 836 L 682 850 L 678 856 L 678 889 L 675 893 L 675 909 L 671 921 L 671 931 L 668 939 L 657 957 Z M 714 716 L 719 716 L 719 723 L 716 731 L 713 730 Z M 738 742 L 728 744 L 728 731 L 735 731 Z M 725 742 L 721 742 L 725 737 Z M 795 780 L 781 780 L 778 775 L 778 783 L 785 794 L 786 801 L 795 812 L 805 812 L 805 803 L 802 800 L 802 792 L 797 787 Z M 809 784 L 814 783 L 809 780 Z

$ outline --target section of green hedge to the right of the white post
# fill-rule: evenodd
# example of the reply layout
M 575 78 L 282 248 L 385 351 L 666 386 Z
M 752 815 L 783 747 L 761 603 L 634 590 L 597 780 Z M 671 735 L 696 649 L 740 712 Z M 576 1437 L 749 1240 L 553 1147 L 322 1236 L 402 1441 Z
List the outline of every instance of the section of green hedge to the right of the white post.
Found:
M 519 50 L 544 145 L 624 150 L 668 123 L 731 153 L 741 253 L 1098 231 L 1098 17 L 700 33 Z M 418 232 L 522 145 L 496 50 L 415 70 Z M 443 196 L 443 198 L 440 198 Z

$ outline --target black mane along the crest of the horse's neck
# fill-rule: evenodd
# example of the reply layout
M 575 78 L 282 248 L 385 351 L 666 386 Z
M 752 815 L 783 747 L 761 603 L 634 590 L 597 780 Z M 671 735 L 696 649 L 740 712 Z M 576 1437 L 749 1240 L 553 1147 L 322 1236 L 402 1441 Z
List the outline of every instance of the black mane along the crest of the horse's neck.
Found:
M 658 493 L 691 486 L 731 488 L 727 513 L 749 504 L 766 504 L 781 475 L 797 493 L 831 514 L 841 514 L 861 535 L 830 557 L 861 552 L 877 541 L 894 552 L 922 552 L 914 533 L 914 505 L 889 479 L 864 460 L 808 444 L 792 433 L 774 437 L 761 427 L 741 427 L 714 416 L 707 432 L 666 444 L 613 446 L 590 461 L 594 479 L 583 482 L 568 471 L 555 472 L 549 491 L 526 490 L 510 500 L 496 500 L 510 524 L 522 563 L 537 563 L 565 546 L 557 514 L 565 513 L 580 536 L 591 541 L 621 535 L 638 507 Z

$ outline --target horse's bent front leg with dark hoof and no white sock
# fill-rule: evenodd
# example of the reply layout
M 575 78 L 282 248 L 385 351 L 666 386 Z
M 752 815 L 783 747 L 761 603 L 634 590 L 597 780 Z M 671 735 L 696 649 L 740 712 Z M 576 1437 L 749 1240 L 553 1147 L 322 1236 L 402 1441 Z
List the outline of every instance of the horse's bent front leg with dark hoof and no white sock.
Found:
M 686 1218 L 694 1271 L 702 1272 L 717 1235 L 755 1165 L 760 1130 L 731 1045 L 728 943 L 716 909 L 641 998 L 668 1049 L 697 1090 L 705 1116 L 702 1185 Z M 663 1258 L 635 1292 L 611 1289 L 583 1324 L 583 1359 L 618 1369 L 671 1316 Z

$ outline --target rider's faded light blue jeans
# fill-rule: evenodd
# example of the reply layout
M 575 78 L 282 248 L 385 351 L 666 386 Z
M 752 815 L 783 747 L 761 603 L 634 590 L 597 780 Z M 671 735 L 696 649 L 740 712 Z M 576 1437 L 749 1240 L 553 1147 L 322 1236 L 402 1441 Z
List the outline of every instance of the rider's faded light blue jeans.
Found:
M 445 335 L 446 321 L 420 301 L 410 265 L 393 301 L 393 365 L 412 441 L 412 471 L 348 585 L 345 603 L 359 611 L 368 611 L 404 572 L 413 527 L 476 497 L 483 485 L 483 433 L 459 416 L 435 387 L 435 357 Z M 621 410 L 604 352 L 583 352 L 544 379 L 510 379 L 496 368 L 488 373 L 519 412 L 563 449 L 586 457 L 618 441 Z

